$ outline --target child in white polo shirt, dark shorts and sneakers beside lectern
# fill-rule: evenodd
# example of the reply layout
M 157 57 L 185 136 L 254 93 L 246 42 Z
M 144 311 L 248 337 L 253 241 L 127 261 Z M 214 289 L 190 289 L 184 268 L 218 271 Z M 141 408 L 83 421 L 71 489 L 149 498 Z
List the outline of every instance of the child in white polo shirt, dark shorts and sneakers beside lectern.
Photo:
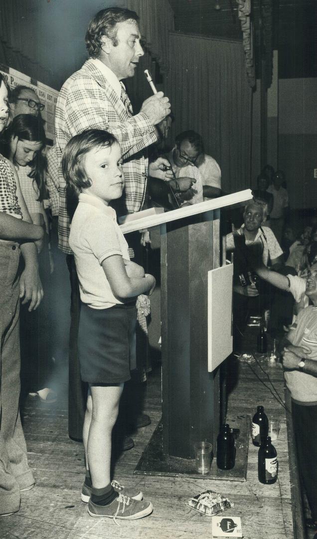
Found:
M 139 519 L 150 502 L 138 489 L 110 482 L 111 432 L 124 382 L 135 367 L 136 296 L 151 294 L 155 279 L 129 259 L 128 244 L 109 206 L 124 188 L 121 148 L 99 129 L 76 135 L 62 158 L 68 196 L 78 197 L 69 236 L 82 301 L 78 351 L 88 382 L 83 427 L 86 478 L 82 500 L 94 517 Z

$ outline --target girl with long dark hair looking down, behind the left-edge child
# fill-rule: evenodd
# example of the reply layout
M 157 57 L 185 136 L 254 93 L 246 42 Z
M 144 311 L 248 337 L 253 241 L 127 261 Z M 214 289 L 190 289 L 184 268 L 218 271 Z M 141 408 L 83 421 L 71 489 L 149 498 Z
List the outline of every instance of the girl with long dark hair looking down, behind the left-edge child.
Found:
M 45 298 L 35 313 L 22 308 L 20 312 L 22 402 L 28 393 L 45 402 L 54 402 L 56 393 L 48 387 L 52 382 L 53 360 L 51 344 L 50 258 L 48 251 L 48 220 L 43 200 L 45 187 L 46 136 L 43 120 L 31 114 L 13 118 L 4 132 L 5 157 L 15 165 L 27 210 L 34 224 L 46 231 L 39 254 L 39 271 Z

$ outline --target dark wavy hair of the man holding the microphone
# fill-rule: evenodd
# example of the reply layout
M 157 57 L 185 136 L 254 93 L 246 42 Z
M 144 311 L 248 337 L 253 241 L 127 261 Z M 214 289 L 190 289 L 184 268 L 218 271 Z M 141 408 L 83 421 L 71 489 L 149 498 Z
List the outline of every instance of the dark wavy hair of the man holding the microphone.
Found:
M 85 36 L 89 57 L 98 58 L 100 56 L 102 36 L 112 39 L 112 43 L 116 47 L 118 45 L 117 24 L 131 19 L 139 22 L 137 13 L 125 8 L 107 8 L 98 11 L 95 17 L 90 20 Z

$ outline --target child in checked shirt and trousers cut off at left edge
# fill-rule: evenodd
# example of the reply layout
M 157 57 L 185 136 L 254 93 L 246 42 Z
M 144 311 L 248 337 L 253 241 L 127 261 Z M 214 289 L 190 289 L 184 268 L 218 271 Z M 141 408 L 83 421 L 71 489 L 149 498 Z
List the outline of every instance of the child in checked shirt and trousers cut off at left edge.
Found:
M 0 132 L 9 119 L 9 86 L 0 73 Z M 19 306 L 43 298 L 37 248 L 43 228 L 33 225 L 15 168 L 0 156 L 0 516 L 19 510 L 20 492 L 34 486 L 19 414 Z M 25 261 L 19 273 L 20 253 Z

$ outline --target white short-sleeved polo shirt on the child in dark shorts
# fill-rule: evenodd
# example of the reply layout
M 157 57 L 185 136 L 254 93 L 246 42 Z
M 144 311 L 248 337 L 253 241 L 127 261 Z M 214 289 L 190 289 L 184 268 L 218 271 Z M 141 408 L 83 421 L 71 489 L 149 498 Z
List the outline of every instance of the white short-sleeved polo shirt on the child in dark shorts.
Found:
M 130 260 L 116 212 L 99 198 L 81 193 L 74 213 L 69 245 L 75 256 L 80 298 L 93 309 L 108 309 L 119 301 L 112 294 L 102 262 L 114 254 Z

